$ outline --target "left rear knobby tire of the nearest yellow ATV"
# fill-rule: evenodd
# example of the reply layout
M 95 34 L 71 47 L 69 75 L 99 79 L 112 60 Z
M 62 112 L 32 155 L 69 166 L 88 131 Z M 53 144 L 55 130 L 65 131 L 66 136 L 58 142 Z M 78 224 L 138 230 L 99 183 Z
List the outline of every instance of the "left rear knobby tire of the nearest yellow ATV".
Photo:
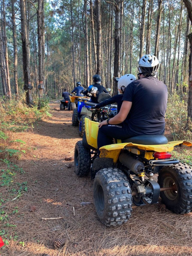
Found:
M 97 215 L 104 225 L 121 225 L 131 217 L 131 187 L 121 170 L 99 170 L 94 179 L 93 196 Z

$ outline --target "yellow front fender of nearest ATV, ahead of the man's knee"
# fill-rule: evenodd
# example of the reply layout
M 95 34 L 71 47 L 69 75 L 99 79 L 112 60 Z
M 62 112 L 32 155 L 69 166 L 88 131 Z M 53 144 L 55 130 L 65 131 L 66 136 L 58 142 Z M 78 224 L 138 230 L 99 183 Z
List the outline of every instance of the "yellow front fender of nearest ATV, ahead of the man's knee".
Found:
M 98 124 L 98 122 L 85 118 L 85 133 L 87 143 L 94 148 L 97 148 L 97 134 L 99 130 Z

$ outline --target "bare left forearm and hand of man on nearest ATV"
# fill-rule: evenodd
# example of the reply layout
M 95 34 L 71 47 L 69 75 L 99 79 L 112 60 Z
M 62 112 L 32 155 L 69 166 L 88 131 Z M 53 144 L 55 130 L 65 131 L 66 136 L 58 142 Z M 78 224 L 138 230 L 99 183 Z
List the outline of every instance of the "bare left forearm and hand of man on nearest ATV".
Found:
M 120 124 L 120 123 L 122 123 L 126 119 L 127 115 L 129 114 L 131 106 L 132 106 L 131 101 L 124 100 L 119 113 L 117 115 L 115 115 L 113 118 L 110 118 L 109 124 Z M 107 124 L 105 122 L 106 122 L 106 120 L 101 122 L 98 126 L 101 127 L 102 125 Z

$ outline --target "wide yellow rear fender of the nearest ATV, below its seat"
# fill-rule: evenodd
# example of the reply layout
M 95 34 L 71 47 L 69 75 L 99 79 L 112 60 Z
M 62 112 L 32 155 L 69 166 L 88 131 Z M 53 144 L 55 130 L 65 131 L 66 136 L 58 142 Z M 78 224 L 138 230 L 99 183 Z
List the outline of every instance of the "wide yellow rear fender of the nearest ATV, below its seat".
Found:
M 118 143 L 118 144 L 111 144 L 111 145 L 106 145 L 101 147 L 100 148 L 101 153 L 99 157 L 113 158 L 113 162 L 116 163 L 122 149 L 129 149 L 134 146 L 142 150 L 170 152 L 174 149 L 174 146 L 180 145 L 180 144 L 183 144 L 186 146 L 192 146 L 192 143 L 189 141 L 170 141 L 167 144 L 160 144 L 160 145 L 142 145 L 142 144 L 136 144 L 131 142 Z

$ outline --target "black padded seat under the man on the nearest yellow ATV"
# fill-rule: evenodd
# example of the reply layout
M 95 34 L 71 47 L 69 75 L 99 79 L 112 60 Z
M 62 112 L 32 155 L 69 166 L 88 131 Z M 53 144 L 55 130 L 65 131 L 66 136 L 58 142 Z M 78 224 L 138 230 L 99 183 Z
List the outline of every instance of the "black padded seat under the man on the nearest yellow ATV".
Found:
M 143 144 L 143 145 L 160 145 L 167 144 L 168 140 L 163 135 L 140 135 L 134 136 L 125 140 L 121 140 L 122 143 L 132 142 L 135 144 Z

